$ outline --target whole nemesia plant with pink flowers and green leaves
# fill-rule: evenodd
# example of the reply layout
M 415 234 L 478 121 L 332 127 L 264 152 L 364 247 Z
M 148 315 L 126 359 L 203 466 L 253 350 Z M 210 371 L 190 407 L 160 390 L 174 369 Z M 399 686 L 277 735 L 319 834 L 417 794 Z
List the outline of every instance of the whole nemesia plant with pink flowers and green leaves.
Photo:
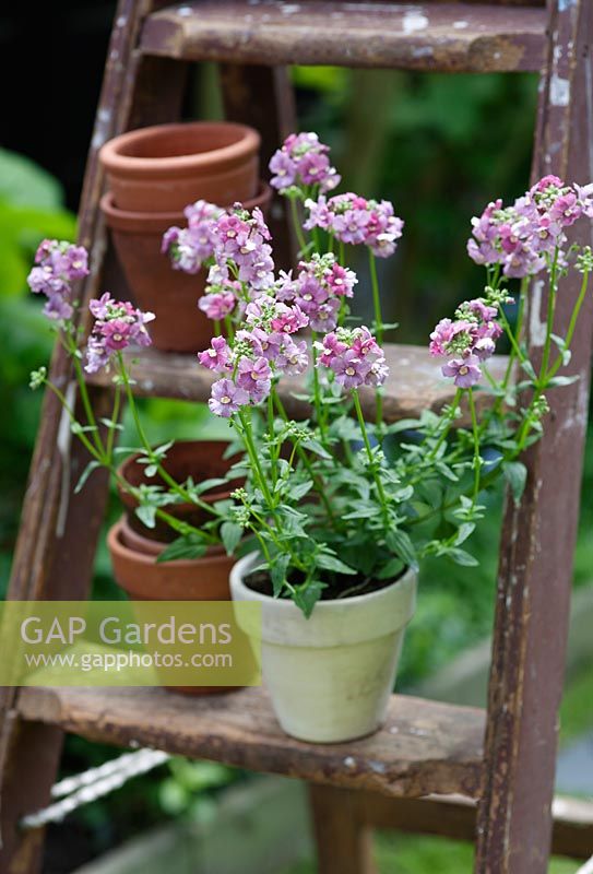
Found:
M 593 255 L 590 247 L 569 246 L 567 228 L 593 217 L 593 184 L 565 185 L 547 176 L 511 206 L 494 201 L 472 221 L 467 251 L 484 265 L 485 284 L 452 318 L 439 321 L 429 341 L 442 377 L 454 387 L 452 401 L 439 413 L 390 422 L 383 415 L 389 365 L 376 259 L 394 255 L 403 221 L 384 200 L 328 197 L 340 177 L 313 133 L 289 137 L 270 169 L 272 185 L 293 206 L 301 247 L 294 271 L 275 269 L 262 213 L 240 204 L 223 211 L 199 201 L 186 211 L 187 228 L 171 228 L 163 240 L 175 269 L 207 270 L 199 306 L 213 320 L 214 335 L 198 362 L 213 376 L 211 412 L 228 422 L 232 451 L 244 451 L 228 477 L 240 472 L 246 484 L 232 500 L 202 505 L 195 484 L 174 483 L 163 472 L 169 445 L 153 450 L 144 438 L 122 350 L 150 342 L 151 314 L 108 295 L 92 302 L 95 322 L 82 353 L 63 309 L 73 306 L 71 294 L 59 284 L 68 285 L 68 270 L 76 269 L 68 267 L 74 256 L 67 244 L 41 245 L 37 260 L 45 268 L 49 259 L 47 285 L 37 268 L 31 283 L 47 294 L 48 315 L 74 359 L 82 355 L 90 371 L 114 370 L 114 415 L 103 422 L 106 441 L 92 411 L 86 410 L 83 428 L 70 413 L 74 433 L 93 456 L 91 468 L 114 470 L 123 391 L 147 472 L 165 480 L 165 486 L 138 492 L 143 521 L 150 524 L 155 515 L 170 520 L 166 507 L 176 500 L 194 501 L 212 515 L 201 531 L 170 520 L 180 536 L 164 558 L 199 554 L 216 538 L 230 554 L 247 538 L 259 554 L 253 584 L 293 599 L 309 616 L 318 600 L 372 591 L 428 555 L 476 564 L 467 542 L 484 515 L 481 495 L 503 477 L 519 500 L 526 480 L 521 454 L 542 434 L 546 394 L 576 378 L 559 370 L 570 361 Z M 354 246 L 368 253 L 369 324 L 351 312 L 358 285 L 348 267 Z M 52 251 L 60 257 L 51 260 Z M 582 274 L 581 288 L 567 332 L 558 336 L 556 300 L 572 271 Z M 542 355 L 534 363 L 523 321 L 536 275 L 547 283 L 548 309 Z M 501 369 L 495 373 L 491 358 L 503 336 L 510 354 L 498 377 Z M 297 422 L 287 414 L 278 392 L 285 378 L 297 378 L 294 393 L 309 403 L 308 418 Z M 37 371 L 33 383 L 43 382 L 45 371 Z

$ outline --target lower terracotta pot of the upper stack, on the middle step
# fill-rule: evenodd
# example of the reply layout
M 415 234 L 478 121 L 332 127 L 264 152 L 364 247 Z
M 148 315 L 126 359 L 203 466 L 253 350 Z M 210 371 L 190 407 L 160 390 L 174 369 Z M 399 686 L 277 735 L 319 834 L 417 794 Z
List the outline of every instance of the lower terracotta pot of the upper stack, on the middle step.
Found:
M 248 210 L 260 206 L 265 212 L 271 197 L 270 187 L 262 184 L 258 197 L 245 201 L 245 206 Z M 205 271 L 190 275 L 174 270 L 168 256 L 161 252 L 163 234 L 174 225 L 186 225 L 183 213 L 124 212 L 115 206 L 111 193 L 104 194 L 100 208 L 137 305 L 156 315 L 150 324 L 155 349 L 164 352 L 205 349 L 213 334 L 212 320 L 198 309 Z

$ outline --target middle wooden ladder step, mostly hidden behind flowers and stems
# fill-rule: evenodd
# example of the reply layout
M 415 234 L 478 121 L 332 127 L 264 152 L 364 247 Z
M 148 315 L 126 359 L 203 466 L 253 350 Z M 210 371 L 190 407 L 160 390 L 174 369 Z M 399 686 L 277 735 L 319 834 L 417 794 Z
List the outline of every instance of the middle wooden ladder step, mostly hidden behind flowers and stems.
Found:
M 425 346 L 387 343 L 386 357 L 390 368 L 383 399 L 383 415 L 387 422 L 417 418 L 423 410 L 438 411 L 450 403 L 454 395 L 451 380 L 440 373 L 442 362 L 434 358 Z M 198 364 L 192 354 L 159 352 L 155 349 L 133 349 L 124 353 L 129 371 L 135 380 L 134 393 L 144 397 L 176 398 L 185 401 L 205 401 L 214 380 L 212 373 Z M 500 379 L 507 367 L 507 358 L 496 355 L 490 359 L 490 373 Z M 111 375 L 105 371 L 88 377 L 92 385 L 109 386 Z M 278 393 L 293 418 L 307 418 L 310 405 L 299 401 L 294 392 L 304 392 L 303 378 L 283 379 Z M 375 392 L 360 392 L 365 416 L 375 416 Z M 486 404 L 491 395 L 478 395 L 478 405 Z

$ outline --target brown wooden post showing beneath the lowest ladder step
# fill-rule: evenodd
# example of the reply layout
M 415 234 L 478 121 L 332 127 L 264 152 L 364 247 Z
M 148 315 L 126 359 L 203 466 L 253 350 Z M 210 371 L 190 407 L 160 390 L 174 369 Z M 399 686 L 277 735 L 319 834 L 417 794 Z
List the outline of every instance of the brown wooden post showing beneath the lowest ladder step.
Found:
M 309 786 L 318 874 L 376 874 L 372 832 L 360 816 L 358 793 Z

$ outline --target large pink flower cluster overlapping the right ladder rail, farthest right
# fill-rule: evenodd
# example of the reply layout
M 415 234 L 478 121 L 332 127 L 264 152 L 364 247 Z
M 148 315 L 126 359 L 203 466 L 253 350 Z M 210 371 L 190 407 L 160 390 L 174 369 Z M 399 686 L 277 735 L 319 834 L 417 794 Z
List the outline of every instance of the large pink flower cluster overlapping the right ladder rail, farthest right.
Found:
M 477 264 L 500 264 L 506 276 L 532 276 L 549 265 L 567 241 L 565 229 L 581 215 L 593 217 L 593 184 L 566 186 L 544 176 L 512 206 L 499 199 L 472 218 L 467 252 Z

